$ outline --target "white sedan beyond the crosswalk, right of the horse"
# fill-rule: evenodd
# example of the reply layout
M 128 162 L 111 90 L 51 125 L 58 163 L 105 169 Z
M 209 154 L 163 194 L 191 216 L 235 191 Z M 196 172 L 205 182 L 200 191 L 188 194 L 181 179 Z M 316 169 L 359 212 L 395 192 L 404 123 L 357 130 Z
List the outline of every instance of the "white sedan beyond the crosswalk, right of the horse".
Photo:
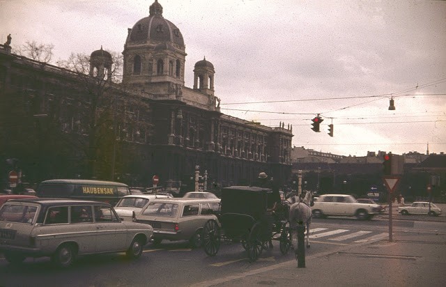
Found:
M 359 203 L 348 194 L 323 194 L 314 201 L 312 212 L 314 217 L 332 215 L 354 216 L 357 219 L 371 219 L 379 213 L 380 205 Z

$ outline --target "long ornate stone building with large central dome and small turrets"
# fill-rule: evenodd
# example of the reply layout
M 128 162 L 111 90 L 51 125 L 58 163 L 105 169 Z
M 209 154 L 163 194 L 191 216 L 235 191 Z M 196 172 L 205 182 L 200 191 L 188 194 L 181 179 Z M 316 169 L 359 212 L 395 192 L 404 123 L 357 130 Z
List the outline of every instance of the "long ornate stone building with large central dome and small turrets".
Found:
M 148 16 L 128 29 L 122 54 L 123 79 L 117 84 L 109 77 L 112 55 L 102 47 L 91 53 L 89 75 L 40 65 L 0 49 L 0 88 L 10 91 L 11 99 L 23 98 L 21 107 L 31 114 L 29 121 L 34 121 L 33 114 L 47 115 L 43 122 L 57 119 L 48 129 L 54 133 L 49 143 L 61 140 L 67 149 L 63 155 L 45 154 L 54 159 L 51 164 L 30 159 L 29 168 L 24 168 L 30 178 L 95 177 L 148 187 L 157 176 L 159 185 L 187 192 L 197 188 L 196 170 L 206 178 L 203 189 L 250 185 L 264 171 L 281 185 L 289 183 L 292 127 L 282 122 L 267 127 L 223 114 L 215 67 L 206 56 L 194 59 L 194 82 L 187 87 L 183 34 L 163 17 L 157 0 L 148 7 Z M 70 149 L 69 141 L 79 145 Z M 27 153 L 8 155 L 8 147 L 3 150 L 26 162 Z M 92 172 L 84 173 L 85 166 Z

